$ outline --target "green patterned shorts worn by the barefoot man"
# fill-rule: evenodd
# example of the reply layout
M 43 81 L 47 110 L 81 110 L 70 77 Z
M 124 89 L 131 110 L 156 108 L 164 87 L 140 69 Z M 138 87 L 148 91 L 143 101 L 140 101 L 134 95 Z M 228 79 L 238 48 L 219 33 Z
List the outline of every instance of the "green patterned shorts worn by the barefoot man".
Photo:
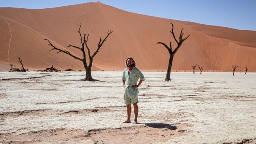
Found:
M 125 88 L 125 104 L 131 104 L 131 103 L 138 103 L 138 93 L 139 90 L 137 89 L 133 89 L 132 87 L 126 87 Z

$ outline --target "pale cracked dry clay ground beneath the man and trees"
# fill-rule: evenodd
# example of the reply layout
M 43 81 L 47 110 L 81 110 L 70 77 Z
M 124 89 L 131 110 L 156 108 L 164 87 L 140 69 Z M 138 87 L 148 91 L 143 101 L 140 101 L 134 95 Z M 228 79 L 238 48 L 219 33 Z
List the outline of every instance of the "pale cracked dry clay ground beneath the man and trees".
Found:
M 84 74 L 1 72 L 0 143 L 256 143 L 256 73 L 144 72 L 137 125 L 122 72 Z

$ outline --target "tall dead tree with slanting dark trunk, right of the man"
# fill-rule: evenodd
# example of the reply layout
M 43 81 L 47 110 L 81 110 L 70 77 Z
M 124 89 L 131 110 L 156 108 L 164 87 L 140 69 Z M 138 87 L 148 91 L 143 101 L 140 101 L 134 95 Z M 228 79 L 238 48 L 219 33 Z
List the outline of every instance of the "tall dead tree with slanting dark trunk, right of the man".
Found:
M 174 54 L 178 51 L 178 49 L 180 48 L 180 46 L 182 45 L 182 42 L 184 42 L 188 37 L 185 37 L 184 39 L 182 38 L 183 34 L 182 33 L 182 30 L 180 31 L 180 35 L 179 35 L 179 41 L 176 39 L 175 35 L 174 35 L 174 32 L 173 32 L 173 24 L 170 22 L 170 24 L 172 25 L 172 29 L 171 29 L 171 34 L 175 40 L 175 42 L 177 43 L 177 46 L 176 48 L 172 51 L 172 47 L 171 47 L 171 41 L 170 41 L 170 47 L 168 47 L 166 44 L 164 44 L 163 42 L 157 42 L 157 44 L 162 44 L 169 52 L 170 54 L 170 58 L 169 58 L 169 63 L 168 63 L 168 66 L 167 66 L 167 73 L 166 73 L 166 76 L 165 76 L 165 81 L 168 82 L 168 81 L 171 81 L 171 78 L 170 78 L 170 74 L 171 74 L 171 67 L 172 67 L 172 61 L 173 61 L 173 58 L 174 58 Z

